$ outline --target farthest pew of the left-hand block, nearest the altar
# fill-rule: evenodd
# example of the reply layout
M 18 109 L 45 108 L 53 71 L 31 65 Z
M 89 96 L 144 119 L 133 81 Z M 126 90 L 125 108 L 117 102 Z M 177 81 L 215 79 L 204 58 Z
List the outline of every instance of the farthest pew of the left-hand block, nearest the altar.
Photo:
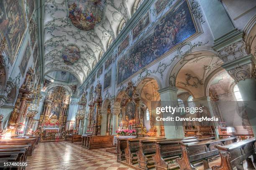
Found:
M 28 156 L 31 156 L 33 153 L 33 150 L 36 145 L 36 138 L 28 138 L 28 139 L 17 139 L 17 138 L 12 138 L 12 139 L 0 139 L 0 145 L 28 145 L 30 144 L 31 147 L 28 149 Z

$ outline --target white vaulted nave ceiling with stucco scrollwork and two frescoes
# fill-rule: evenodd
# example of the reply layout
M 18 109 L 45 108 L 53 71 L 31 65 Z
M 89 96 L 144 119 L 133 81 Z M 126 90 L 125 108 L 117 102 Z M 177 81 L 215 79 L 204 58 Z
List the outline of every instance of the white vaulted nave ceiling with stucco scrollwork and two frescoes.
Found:
M 131 18 L 135 1 L 45 0 L 44 72 L 67 71 L 82 82 L 118 35 L 120 22 Z

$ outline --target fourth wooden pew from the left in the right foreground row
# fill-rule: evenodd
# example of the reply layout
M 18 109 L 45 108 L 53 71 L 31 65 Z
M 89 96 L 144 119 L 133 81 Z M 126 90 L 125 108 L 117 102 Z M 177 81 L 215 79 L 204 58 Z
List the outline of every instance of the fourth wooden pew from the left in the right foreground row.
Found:
M 214 137 L 210 138 L 202 138 L 202 139 L 190 139 L 183 141 L 184 143 L 191 143 L 197 140 L 200 141 L 209 141 L 215 139 Z M 173 160 L 179 158 L 182 154 L 182 150 L 180 148 L 181 141 L 156 141 L 156 154 L 152 156 L 154 160 L 154 165 L 156 170 L 169 170 L 172 168 L 179 168 L 179 166 L 173 167 Z

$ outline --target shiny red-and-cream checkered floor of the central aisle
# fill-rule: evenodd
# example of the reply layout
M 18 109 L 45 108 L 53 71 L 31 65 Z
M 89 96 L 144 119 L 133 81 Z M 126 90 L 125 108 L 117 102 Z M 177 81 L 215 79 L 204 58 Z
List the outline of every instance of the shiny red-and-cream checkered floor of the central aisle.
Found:
M 68 142 L 39 143 L 26 170 L 133 170 L 116 162 L 106 148 L 88 150 Z

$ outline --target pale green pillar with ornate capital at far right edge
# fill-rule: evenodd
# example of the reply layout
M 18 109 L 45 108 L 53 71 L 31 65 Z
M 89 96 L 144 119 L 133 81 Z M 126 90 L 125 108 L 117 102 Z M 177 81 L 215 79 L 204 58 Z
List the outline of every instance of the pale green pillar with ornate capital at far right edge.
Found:
M 237 83 L 253 133 L 256 135 L 256 59 L 250 54 L 225 63 L 222 67 Z

